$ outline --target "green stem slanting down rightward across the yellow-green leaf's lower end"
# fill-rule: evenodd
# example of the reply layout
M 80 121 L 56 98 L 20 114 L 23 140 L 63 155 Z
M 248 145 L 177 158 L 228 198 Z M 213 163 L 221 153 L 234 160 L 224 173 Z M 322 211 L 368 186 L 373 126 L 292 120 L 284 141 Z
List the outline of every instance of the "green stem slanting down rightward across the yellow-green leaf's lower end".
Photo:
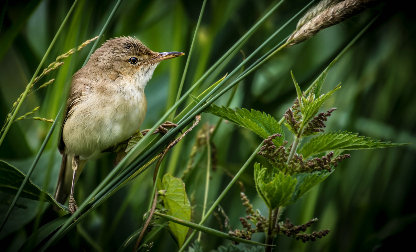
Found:
M 212 229 L 212 228 L 207 228 L 205 226 L 201 226 L 201 225 L 189 222 L 187 220 L 181 220 L 179 218 L 175 218 L 173 216 L 166 215 L 166 214 L 163 214 L 163 213 L 157 213 L 156 212 L 155 215 L 160 216 L 160 217 L 162 217 L 166 220 L 169 220 L 170 222 L 178 223 L 178 225 L 183 225 L 183 226 L 186 226 L 188 228 L 193 228 L 195 230 L 198 230 L 198 231 L 210 234 L 210 235 L 215 235 L 215 236 L 218 236 L 218 237 L 221 237 L 221 238 L 225 238 L 225 239 L 228 239 L 228 240 L 241 242 L 241 243 L 247 243 L 247 244 L 253 244 L 253 245 L 268 246 L 268 245 L 262 244 L 260 242 L 254 242 L 252 240 L 245 240 L 243 238 L 238 238 L 238 237 L 235 237 L 233 235 L 229 235 L 227 233 L 223 233 L 223 232 L 220 232 L 220 231 Z

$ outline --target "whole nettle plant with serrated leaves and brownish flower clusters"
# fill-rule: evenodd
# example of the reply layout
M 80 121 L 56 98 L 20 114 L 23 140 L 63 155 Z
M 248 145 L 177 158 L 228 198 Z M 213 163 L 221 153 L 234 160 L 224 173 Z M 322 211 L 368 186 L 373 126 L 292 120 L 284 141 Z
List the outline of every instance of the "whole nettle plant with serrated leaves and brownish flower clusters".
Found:
M 218 107 L 211 105 L 206 112 L 212 113 L 239 126 L 246 127 L 261 137 L 265 138 L 258 155 L 265 157 L 271 168 L 254 165 L 254 180 L 259 196 L 269 209 L 268 216 L 264 216 L 259 210 L 254 210 L 247 196 L 241 193 L 243 206 L 246 207 L 247 216 L 241 217 L 240 221 L 245 230 L 234 230 L 229 235 L 251 240 L 253 233 L 264 232 L 266 245 L 272 245 L 276 235 L 287 235 L 288 237 L 302 240 L 302 242 L 314 241 L 329 233 L 329 230 L 320 230 L 310 234 L 304 233 L 316 218 L 301 225 L 290 223 L 289 219 L 279 222 L 282 210 L 301 198 L 314 186 L 327 179 L 334 172 L 338 162 L 351 157 L 350 154 L 342 154 L 347 150 L 375 149 L 394 147 L 404 144 L 380 142 L 370 140 L 368 137 L 358 136 L 351 132 L 324 132 L 328 117 L 336 110 L 332 108 L 327 112 L 318 113 L 331 95 L 341 88 L 340 84 L 335 86 L 326 94 L 320 94 L 322 84 L 327 71 L 315 81 L 311 88 L 302 92 L 295 77 L 297 98 L 291 108 L 288 108 L 282 120 L 277 122 L 270 115 L 255 110 Z M 293 134 L 285 136 L 281 124 Z M 301 148 L 299 143 L 303 137 L 314 136 L 305 142 Z M 288 141 L 293 142 L 287 147 Z M 269 172 L 271 170 L 271 172 Z M 237 242 L 234 242 L 237 243 Z M 267 246 L 266 251 L 272 247 Z

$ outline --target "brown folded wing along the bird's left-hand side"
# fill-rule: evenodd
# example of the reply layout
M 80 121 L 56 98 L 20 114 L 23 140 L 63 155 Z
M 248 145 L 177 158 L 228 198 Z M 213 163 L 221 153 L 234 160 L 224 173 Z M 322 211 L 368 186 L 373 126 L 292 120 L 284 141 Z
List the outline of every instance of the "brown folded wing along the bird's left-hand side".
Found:
M 76 75 L 77 73 L 75 73 L 74 77 Z M 58 150 L 61 154 L 64 154 L 65 152 L 65 143 L 64 138 L 62 137 L 65 122 L 71 116 L 72 108 L 74 108 L 74 106 L 79 102 L 79 98 L 82 97 L 82 93 L 84 93 L 86 89 L 85 82 L 74 77 L 72 78 L 71 89 L 69 90 L 69 97 L 64 113 L 64 120 L 62 120 L 61 130 L 59 132 Z

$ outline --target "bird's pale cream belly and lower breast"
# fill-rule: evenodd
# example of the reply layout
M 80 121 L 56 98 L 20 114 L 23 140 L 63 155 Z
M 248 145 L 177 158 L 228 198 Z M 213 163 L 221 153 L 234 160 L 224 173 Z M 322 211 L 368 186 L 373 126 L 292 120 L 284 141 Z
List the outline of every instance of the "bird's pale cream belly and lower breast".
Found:
M 116 146 L 139 130 L 146 115 L 146 97 L 121 96 L 77 104 L 62 132 L 67 152 L 88 159 Z

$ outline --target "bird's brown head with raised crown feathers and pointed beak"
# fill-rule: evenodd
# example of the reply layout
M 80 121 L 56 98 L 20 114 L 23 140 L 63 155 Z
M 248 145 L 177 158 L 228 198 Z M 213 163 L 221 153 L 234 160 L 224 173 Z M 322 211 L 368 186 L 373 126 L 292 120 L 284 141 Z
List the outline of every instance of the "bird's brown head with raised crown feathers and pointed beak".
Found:
M 156 66 L 165 59 L 182 56 L 179 51 L 154 52 L 139 39 L 119 37 L 109 39 L 94 54 L 87 66 L 99 71 L 99 76 L 115 80 L 118 76 L 140 78 L 145 82 L 151 78 Z

